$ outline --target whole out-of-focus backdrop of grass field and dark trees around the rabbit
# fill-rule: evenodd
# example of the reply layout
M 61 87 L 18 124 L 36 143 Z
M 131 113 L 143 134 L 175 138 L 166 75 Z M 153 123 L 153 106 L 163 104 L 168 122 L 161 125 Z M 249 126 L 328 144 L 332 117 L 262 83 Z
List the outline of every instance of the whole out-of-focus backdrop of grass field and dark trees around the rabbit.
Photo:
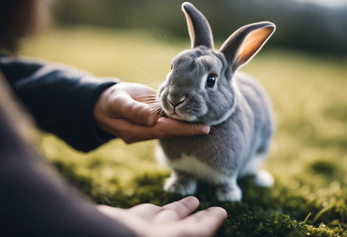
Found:
M 20 55 L 157 88 L 171 59 L 190 47 L 182 1 L 46 2 L 51 24 L 26 38 Z M 191 2 L 210 22 L 216 49 L 243 25 L 268 20 L 277 26 L 241 69 L 261 82 L 273 102 L 277 132 L 264 167 L 276 184 L 264 189 L 245 179 L 240 181 L 242 203 L 218 203 L 214 187 L 200 183 L 200 209 L 227 209 L 228 221 L 219 236 L 271 231 L 267 236 L 285 236 L 295 230 L 347 236 L 347 1 Z M 85 154 L 39 132 L 36 144 L 70 183 L 97 203 L 131 207 L 180 198 L 162 191 L 170 172 L 155 161 L 156 141 L 126 145 L 115 139 Z M 309 226 L 300 226 L 306 217 Z

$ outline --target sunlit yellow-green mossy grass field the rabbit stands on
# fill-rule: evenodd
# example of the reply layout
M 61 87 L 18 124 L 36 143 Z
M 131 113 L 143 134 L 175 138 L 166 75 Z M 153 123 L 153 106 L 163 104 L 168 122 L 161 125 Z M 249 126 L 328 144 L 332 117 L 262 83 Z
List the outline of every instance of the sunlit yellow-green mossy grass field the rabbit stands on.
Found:
M 172 44 L 174 39 L 169 37 Z M 175 40 L 178 51 L 190 45 Z M 21 54 L 153 84 L 136 69 L 163 81 L 175 52 L 166 40 L 146 32 L 70 28 L 25 41 Z M 260 188 L 240 180 L 243 201 L 220 203 L 213 186 L 199 183 L 198 209 L 217 205 L 228 212 L 218 236 L 347 236 L 346 64 L 347 58 L 265 46 L 242 69 L 261 81 L 273 101 L 277 132 L 264 167 L 276 184 Z M 97 203 L 128 208 L 181 198 L 162 191 L 169 170 L 155 161 L 156 141 L 126 145 L 115 139 L 89 153 L 51 134 L 40 133 L 36 143 L 70 183 Z

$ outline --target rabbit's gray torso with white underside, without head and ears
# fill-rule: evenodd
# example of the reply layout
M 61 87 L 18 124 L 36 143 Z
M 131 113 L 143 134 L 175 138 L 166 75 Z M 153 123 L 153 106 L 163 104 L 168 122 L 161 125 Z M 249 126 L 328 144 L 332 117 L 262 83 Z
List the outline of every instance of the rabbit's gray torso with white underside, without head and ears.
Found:
M 271 106 L 252 77 L 237 72 L 233 80 L 232 86 L 239 91 L 230 117 L 213 125 L 208 135 L 161 139 L 156 152 L 162 164 L 217 185 L 257 174 L 273 132 Z M 272 183 L 271 178 L 255 177 L 261 179 L 257 181 L 260 185 Z M 195 184 L 183 187 L 181 193 L 191 195 L 194 191 Z

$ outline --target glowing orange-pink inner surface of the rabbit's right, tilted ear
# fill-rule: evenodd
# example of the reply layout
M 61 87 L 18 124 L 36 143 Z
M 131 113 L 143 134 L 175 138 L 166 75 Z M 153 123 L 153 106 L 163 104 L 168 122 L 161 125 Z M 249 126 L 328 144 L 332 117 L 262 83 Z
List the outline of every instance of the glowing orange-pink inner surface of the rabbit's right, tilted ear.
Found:
M 269 38 L 272 32 L 273 27 L 270 26 L 256 29 L 249 33 L 240 47 L 236 62 L 234 63 L 235 67 L 238 67 L 251 59 Z

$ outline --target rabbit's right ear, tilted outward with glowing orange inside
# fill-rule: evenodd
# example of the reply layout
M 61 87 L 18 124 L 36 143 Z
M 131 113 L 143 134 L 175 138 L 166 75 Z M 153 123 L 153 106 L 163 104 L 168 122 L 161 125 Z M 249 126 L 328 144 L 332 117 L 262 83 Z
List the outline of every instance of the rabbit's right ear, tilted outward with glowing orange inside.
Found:
M 253 58 L 275 29 L 276 26 L 268 21 L 246 25 L 230 35 L 219 51 L 224 54 L 233 71 L 236 71 Z

